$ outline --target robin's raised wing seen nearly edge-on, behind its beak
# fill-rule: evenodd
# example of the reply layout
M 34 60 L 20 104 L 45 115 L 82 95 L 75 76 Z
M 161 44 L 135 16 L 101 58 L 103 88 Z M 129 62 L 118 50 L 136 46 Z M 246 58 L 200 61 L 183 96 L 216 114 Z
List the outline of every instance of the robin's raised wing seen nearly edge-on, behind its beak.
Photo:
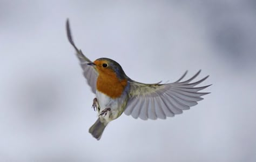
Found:
M 95 68 L 93 68 L 93 66 L 87 65 L 88 63 L 92 63 L 91 60 L 84 56 L 83 52 L 81 50 L 78 50 L 75 43 L 73 42 L 69 26 L 69 19 L 67 19 L 66 21 L 66 33 L 68 35 L 70 44 L 76 50 L 76 55 L 80 61 L 80 65 L 82 66 L 84 77 L 86 78 L 87 83 L 91 86 L 92 92 L 96 93 L 96 82 L 98 78 L 98 72 Z

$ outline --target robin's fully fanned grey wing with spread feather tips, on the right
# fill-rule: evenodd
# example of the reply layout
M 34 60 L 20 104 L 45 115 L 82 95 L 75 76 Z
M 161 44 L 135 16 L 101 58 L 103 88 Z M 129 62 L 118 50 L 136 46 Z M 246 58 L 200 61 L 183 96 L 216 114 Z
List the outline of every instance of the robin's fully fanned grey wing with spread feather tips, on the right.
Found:
M 124 113 L 136 119 L 138 117 L 143 120 L 165 119 L 197 105 L 197 102 L 203 99 L 201 96 L 208 94 L 198 91 L 210 85 L 194 86 L 203 82 L 208 76 L 198 82 L 190 83 L 199 75 L 200 71 L 198 71 L 192 78 L 180 82 L 186 73 L 187 71 L 176 82 L 168 84 L 144 84 L 131 80 L 130 99 Z

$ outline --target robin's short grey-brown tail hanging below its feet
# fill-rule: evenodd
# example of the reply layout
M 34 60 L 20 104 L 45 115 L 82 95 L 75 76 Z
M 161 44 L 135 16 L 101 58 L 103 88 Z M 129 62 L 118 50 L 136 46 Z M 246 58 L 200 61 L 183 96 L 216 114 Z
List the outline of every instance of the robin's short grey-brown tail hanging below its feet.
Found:
M 93 124 L 90 127 L 89 133 L 91 133 L 94 138 L 99 140 L 100 137 L 102 137 L 102 133 L 103 133 L 106 125 L 107 125 L 107 123 L 100 122 L 100 119 L 98 118 L 98 120 L 95 122 L 95 124 Z

